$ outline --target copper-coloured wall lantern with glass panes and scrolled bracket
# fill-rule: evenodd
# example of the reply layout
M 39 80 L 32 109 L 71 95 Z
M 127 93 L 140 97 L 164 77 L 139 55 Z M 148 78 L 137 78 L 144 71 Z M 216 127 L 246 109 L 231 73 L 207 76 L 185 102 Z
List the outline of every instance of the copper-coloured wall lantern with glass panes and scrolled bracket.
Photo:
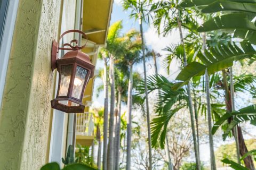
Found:
M 70 32 L 81 33 L 86 39 L 84 32 L 79 30 L 69 30 L 64 32 L 60 39 Z M 59 39 L 59 40 L 60 40 Z M 76 46 L 71 45 L 75 43 Z M 79 47 L 78 40 L 71 40 L 70 43 L 59 47 L 59 42 L 52 43 L 52 71 L 57 68 L 59 72 L 59 84 L 57 96 L 51 100 L 52 108 L 66 113 L 83 113 L 82 104 L 84 89 L 90 78 L 93 77 L 94 65 L 90 57 L 79 50 L 86 46 Z M 68 46 L 68 48 L 64 48 Z M 62 58 L 58 59 L 59 50 L 70 50 Z

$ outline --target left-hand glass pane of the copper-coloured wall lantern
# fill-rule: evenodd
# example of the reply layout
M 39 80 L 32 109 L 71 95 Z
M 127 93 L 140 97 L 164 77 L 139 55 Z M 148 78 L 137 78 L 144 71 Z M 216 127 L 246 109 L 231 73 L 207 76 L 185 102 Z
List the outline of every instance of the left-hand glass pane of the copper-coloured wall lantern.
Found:
M 70 83 L 70 77 L 73 65 L 62 65 L 60 72 L 60 91 L 59 96 L 67 96 Z

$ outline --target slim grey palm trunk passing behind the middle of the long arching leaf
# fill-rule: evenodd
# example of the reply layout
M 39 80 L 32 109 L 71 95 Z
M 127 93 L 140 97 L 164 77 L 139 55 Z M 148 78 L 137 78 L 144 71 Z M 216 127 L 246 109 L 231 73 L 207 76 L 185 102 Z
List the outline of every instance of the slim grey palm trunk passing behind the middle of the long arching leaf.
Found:
M 202 49 L 203 49 L 203 54 L 204 54 L 204 50 L 206 49 L 206 33 L 203 32 L 202 35 L 203 35 L 203 48 Z M 210 84 L 209 84 L 209 75 L 207 72 L 207 68 L 205 70 L 205 89 L 206 89 L 211 169 L 216 170 L 216 162 L 215 162 L 214 146 L 213 146 L 213 136 L 212 136 L 212 111 L 211 111 L 211 100 L 210 100 Z

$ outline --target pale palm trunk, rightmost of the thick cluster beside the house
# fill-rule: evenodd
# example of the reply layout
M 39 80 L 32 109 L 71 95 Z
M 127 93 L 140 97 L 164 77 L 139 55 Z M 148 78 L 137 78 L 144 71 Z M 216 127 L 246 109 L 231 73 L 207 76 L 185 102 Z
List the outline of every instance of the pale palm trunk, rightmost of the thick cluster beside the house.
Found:
M 127 101 L 127 150 L 126 150 L 126 170 L 131 169 L 131 144 L 132 144 L 132 64 L 130 64 L 130 78 L 128 84 Z

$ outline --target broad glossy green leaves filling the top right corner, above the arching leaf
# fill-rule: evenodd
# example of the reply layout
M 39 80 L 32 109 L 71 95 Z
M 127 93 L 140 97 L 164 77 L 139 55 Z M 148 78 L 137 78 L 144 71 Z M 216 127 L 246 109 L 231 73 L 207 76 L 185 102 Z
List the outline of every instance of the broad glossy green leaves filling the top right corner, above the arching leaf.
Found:
M 256 26 L 253 18 L 256 12 L 256 1 L 254 0 L 185 0 L 182 7 L 200 7 L 203 13 L 221 12 L 222 15 L 206 21 L 199 31 L 225 30 L 234 32 L 234 37 L 248 40 L 256 44 Z

